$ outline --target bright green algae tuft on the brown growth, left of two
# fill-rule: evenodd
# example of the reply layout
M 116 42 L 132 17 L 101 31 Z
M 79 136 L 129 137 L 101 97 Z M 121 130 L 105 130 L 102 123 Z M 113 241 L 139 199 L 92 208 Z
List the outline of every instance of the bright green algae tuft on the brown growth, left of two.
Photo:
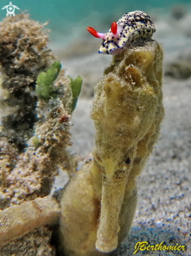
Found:
M 50 99 L 51 97 L 56 97 L 56 92 L 54 91 L 54 81 L 59 75 L 59 71 L 61 70 L 61 63 L 59 61 L 55 61 L 51 68 L 49 68 L 46 72 L 41 72 L 37 77 L 37 87 L 36 92 L 37 95 L 44 99 Z

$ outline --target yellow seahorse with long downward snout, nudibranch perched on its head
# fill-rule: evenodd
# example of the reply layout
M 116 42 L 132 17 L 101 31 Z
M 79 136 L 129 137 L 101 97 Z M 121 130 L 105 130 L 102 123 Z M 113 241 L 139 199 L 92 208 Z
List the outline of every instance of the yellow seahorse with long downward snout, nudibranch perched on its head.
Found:
M 135 178 L 164 115 L 162 59 L 157 41 L 124 50 L 95 88 L 93 160 L 71 179 L 61 202 L 67 256 L 111 252 L 127 236 L 136 208 Z

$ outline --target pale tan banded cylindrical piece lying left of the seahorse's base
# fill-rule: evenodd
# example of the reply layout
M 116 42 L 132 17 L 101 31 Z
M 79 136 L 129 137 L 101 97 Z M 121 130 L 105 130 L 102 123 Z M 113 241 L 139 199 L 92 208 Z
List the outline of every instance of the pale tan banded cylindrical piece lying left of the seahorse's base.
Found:
M 1 246 L 9 240 L 25 235 L 34 228 L 55 222 L 58 217 L 59 205 L 51 196 L 38 197 L 20 205 L 10 206 L 6 210 L 0 210 Z

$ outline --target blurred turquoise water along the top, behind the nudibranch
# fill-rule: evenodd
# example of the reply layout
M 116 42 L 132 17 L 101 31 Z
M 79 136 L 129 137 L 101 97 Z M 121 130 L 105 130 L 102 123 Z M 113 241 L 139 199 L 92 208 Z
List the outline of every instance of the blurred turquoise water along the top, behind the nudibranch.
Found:
M 9 4 L 9 0 L 1 0 L 1 8 Z M 113 21 L 133 10 L 143 10 L 151 16 L 152 13 L 163 16 L 170 12 L 173 6 L 191 3 L 190 0 L 46 0 L 24 1 L 13 0 L 12 4 L 20 8 L 15 14 L 26 11 L 31 19 L 40 22 L 48 21 L 46 27 L 51 30 L 52 42 L 65 44 L 88 36 L 86 27 L 94 27 L 99 32 L 106 32 Z M 6 9 L 0 9 L 0 20 L 6 17 Z

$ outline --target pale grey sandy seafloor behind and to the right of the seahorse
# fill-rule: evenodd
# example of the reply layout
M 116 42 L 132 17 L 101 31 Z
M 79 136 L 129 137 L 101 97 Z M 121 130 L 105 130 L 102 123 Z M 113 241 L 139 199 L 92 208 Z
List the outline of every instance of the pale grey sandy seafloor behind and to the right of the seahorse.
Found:
M 191 14 L 187 13 L 181 20 L 166 18 L 155 24 L 157 32 L 153 38 L 163 44 L 164 71 L 179 55 L 185 58 L 190 55 L 191 62 L 190 22 Z M 96 53 L 101 41 L 93 40 L 93 46 L 98 48 L 89 47 L 91 51 L 86 54 L 80 54 L 83 42 L 63 51 L 54 44 L 51 46 L 62 58 L 66 74 L 83 78 L 82 95 L 71 119 L 74 126 L 71 127 L 73 146 L 70 150 L 80 155 L 92 152 L 92 87 L 101 79 L 103 68 L 111 60 L 111 56 Z M 163 96 L 165 117 L 160 139 L 137 179 L 138 204 L 133 226 L 116 255 L 134 255 L 135 244 L 139 241 L 147 241 L 150 245 L 163 242 L 163 246 L 178 243 L 186 249 L 138 251 L 135 255 L 191 255 L 191 74 L 187 79 L 164 76 Z M 62 187 L 62 180 L 62 175 L 57 177 L 57 187 Z

